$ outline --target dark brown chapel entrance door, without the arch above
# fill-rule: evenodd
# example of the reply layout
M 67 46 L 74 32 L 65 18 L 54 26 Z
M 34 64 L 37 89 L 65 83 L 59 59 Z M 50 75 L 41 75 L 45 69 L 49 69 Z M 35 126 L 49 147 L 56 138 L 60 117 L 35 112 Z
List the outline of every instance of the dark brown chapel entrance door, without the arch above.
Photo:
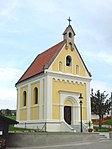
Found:
M 64 120 L 66 123 L 71 125 L 71 107 L 70 106 L 64 107 Z

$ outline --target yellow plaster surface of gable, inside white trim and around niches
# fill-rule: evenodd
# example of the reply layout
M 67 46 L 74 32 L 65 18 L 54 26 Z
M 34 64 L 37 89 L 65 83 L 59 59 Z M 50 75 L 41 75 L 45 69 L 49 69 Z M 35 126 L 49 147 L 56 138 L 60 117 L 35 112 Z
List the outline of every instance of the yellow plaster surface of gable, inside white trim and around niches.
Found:
M 70 55 L 72 57 L 72 66 L 66 66 L 66 56 Z M 79 66 L 79 75 L 86 76 L 86 70 L 84 69 L 79 56 L 77 55 L 75 50 L 70 50 L 70 46 L 68 50 L 65 48 L 59 53 L 58 57 L 55 59 L 52 70 L 59 72 L 59 62 L 62 62 L 63 73 L 71 73 L 76 75 L 76 65 Z

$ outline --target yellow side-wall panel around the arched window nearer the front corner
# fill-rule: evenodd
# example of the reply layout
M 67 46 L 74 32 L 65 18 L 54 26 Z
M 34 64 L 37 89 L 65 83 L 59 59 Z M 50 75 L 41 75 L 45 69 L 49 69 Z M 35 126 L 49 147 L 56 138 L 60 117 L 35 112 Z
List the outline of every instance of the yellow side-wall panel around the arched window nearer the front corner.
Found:
M 38 104 L 34 103 L 34 88 L 38 88 Z M 31 107 L 30 107 L 30 119 L 39 119 L 39 103 L 40 103 L 40 82 L 33 83 L 31 85 Z

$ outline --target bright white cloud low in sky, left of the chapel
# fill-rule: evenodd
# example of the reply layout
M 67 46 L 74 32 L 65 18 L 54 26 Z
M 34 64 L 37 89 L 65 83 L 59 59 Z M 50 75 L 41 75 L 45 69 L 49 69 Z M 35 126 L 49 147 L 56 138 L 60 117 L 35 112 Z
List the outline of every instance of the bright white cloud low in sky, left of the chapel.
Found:
M 22 71 L 15 68 L 0 68 L 0 109 L 16 109 L 15 83 Z

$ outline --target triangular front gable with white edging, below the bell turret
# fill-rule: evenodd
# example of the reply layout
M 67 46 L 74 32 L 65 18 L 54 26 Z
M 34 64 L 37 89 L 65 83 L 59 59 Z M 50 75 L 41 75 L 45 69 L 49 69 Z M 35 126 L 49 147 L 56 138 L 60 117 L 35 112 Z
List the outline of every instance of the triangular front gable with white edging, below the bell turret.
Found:
M 71 57 L 71 66 L 67 66 L 66 64 L 67 56 Z M 59 52 L 58 56 L 56 57 L 51 67 L 52 67 L 52 71 L 84 76 L 84 77 L 91 77 L 91 74 L 88 71 L 75 45 L 71 46 L 69 44 L 66 47 L 66 44 L 65 44 L 65 46 Z

